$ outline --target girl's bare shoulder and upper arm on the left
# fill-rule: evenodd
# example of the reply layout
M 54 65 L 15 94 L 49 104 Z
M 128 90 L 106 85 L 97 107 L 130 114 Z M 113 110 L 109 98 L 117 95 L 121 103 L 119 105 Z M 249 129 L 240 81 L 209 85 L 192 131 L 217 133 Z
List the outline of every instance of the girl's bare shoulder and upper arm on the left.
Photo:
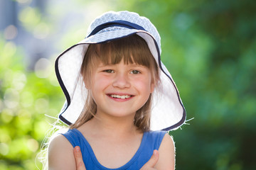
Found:
M 73 146 L 63 135 L 57 135 L 48 147 L 49 169 L 75 169 Z

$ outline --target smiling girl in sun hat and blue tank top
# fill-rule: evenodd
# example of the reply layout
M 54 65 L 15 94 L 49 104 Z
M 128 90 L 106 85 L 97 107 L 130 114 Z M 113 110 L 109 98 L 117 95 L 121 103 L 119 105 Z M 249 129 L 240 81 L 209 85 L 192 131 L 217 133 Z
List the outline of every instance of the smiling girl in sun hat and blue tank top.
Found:
M 59 118 L 70 127 L 51 140 L 49 169 L 76 169 L 76 146 L 86 169 L 174 169 L 166 131 L 181 126 L 186 112 L 160 54 L 147 18 L 111 11 L 57 58 L 66 97 Z

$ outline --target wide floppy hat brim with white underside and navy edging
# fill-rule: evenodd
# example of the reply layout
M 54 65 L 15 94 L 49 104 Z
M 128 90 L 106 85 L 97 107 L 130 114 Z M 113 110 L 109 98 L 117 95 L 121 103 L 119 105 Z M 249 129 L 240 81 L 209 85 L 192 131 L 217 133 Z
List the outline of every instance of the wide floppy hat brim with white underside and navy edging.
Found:
M 161 86 L 153 94 L 151 110 L 151 130 L 174 130 L 186 120 L 186 111 L 178 89 L 160 59 L 159 47 L 154 37 L 144 30 L 122 29 L 112 33 L 97 33 L 85 38 L 78 44 L 65 50 L 55 61 L 55 72 L 66 97 L 59 118 L 68 125 L 75 123 L 85 104 L 86 89 L 80 76 L 83 57 L 90 44 L 106 42 L 137 34 L 144 38 L 159 65 Z

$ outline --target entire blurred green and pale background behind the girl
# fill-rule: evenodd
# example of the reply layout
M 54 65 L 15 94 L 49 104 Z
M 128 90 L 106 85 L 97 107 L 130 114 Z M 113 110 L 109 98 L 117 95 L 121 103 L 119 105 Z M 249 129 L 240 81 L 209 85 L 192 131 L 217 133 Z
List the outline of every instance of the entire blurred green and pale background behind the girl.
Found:
M 0 169 L 41 169 L 49 116 L 65 100 L 55 57 L 110 10 L 135 11 L 159 30 L 194 118 L 170 132 L 176 169 L 256 169 L 255 0 L 0 0 Z

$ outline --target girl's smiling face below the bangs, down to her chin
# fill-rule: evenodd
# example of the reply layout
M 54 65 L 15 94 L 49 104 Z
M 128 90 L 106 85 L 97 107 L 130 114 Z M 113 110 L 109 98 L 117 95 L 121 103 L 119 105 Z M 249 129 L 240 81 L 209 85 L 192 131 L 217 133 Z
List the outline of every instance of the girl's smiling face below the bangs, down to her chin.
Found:
M 133 116 L 154 90 L 149 68 L 139 64 L 102 64 L 93 69 L 89 89 L 101 114 Z

